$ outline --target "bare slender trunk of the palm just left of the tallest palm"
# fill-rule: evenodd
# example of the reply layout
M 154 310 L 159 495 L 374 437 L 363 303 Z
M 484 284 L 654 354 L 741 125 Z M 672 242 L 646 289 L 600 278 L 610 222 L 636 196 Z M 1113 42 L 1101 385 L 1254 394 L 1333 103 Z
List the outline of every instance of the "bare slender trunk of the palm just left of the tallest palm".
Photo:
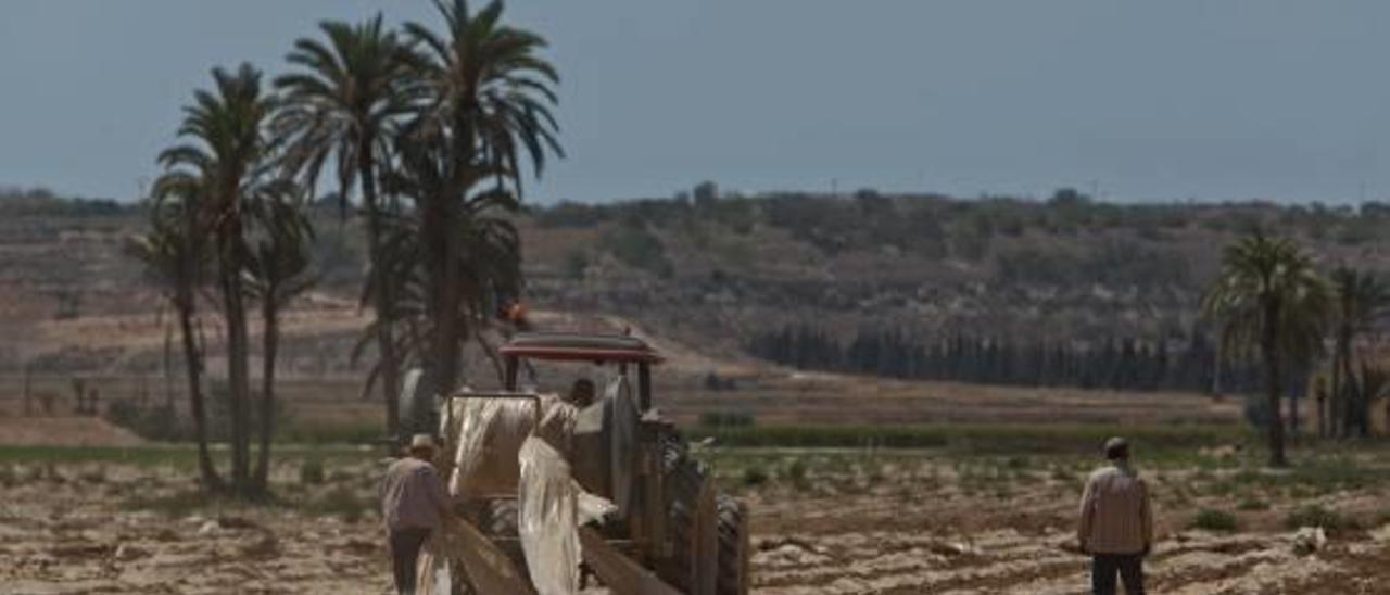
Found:
M 386 435 L 396 438 L 400 432 L 400 381 L 396 359 L 395 324 L 392 318 L 393 288 L 385 267 L 381 246 L 381 203 L 377 199 L 377 178 L 373 175 L 373 140 L 364 139 L 359 146 L 357 175 L 361 178 L 363 202 L 367 206 L 367 257 L 371 259 L 373 309 L 377 313 L 377 349 L 381 354 L 381 398 L 386 405 Z

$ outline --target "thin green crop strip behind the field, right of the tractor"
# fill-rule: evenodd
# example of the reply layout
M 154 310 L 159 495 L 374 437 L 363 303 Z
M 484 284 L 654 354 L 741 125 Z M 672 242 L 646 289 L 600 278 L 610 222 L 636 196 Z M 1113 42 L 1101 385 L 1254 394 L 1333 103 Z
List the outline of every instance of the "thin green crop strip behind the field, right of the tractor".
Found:
M 1137 452 L 1244 443 L 1250 434 L 1223 425 L 742 425 L 695 427 L 692 439 L 720 446 L 944 448 L 972 453 L 1094 453 L 1123 435 Z

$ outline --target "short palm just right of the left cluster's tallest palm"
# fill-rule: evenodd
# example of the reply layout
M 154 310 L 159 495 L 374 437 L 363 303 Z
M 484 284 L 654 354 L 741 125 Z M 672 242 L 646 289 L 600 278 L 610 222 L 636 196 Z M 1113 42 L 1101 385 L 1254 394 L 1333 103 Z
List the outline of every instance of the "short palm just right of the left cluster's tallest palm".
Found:
M 295 298 L 304 293 L 316 282 L 309 275 L 313 228 L 293 199 L 293 188 L 271 193 L 270 203 L 257 204 L 257 229 L 250 257 L 247 277 L 250 295 L 260 300 L 261 321 L 261 393 L 260 409 L 260 450 L 257 452 L 253 489 L 265 494 L 270 478 L 271 435 L 275 431 L 275 360 L 279 348 L 279 311 Z

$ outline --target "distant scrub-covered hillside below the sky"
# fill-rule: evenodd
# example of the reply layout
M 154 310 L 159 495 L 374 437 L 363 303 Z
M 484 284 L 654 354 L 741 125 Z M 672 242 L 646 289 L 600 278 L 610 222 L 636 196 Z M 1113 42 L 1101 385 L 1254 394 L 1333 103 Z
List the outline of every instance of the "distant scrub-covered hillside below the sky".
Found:
M 0 366 L 33 356 L 22 329 L 35 321 L 160 307 L 121 253 L 143 227 L 139 207 L 11 195 L 0 193 Z M 360 234 L 336 209 L 314 220 L 318 300 L 350 307 Z M 1297 236 L 1327 267 L 1390 270 L 1390 206 L 1380 203 L 1122 206 L 1072 190 L 1045 202 L 737 197 L 703 188 L 694 199 L 537 207 L 517 224 L 537 307 L 630 318 L 710 356 L 788 325 L 841 338 L 891 328 L 1179 341 L 1222 246 L 1255 227 Z

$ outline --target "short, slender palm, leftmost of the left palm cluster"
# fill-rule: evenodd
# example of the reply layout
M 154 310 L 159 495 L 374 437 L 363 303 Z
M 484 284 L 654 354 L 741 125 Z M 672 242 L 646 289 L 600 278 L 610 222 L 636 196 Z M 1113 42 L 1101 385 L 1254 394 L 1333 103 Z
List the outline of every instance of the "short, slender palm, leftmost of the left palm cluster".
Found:
M 126 253 L 145 264 L 146 275 L 174 306 L 183 339 L 189 414 L 197 441 L 197 468 L 207 491 L 221 491 L 222 480 L 207 449 L 207 409 L 203 400 L 203 349 L 196 334 L 197 291 L 207 274 L 207 252 L 200 231 L 195 179 L 168 174 L 156 182 L 150 210 L 150 231 L 133 238 Z M 171 402 L 172 405 L 172 402 Z

